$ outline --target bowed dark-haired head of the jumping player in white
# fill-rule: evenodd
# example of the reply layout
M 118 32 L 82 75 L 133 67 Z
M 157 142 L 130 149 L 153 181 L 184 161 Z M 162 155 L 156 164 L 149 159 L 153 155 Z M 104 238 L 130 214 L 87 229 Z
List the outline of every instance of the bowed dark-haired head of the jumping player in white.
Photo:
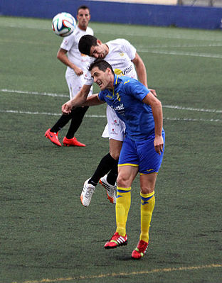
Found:
M 109 49 L 93 35 L 83 35 L 80 38 L 78 48 L 81 53 L 94 58 L 104 59 Z

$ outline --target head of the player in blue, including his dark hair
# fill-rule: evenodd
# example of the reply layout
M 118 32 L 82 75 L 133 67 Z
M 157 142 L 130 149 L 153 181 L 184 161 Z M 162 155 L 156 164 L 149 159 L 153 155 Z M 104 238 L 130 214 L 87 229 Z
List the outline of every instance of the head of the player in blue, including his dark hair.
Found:
M 114 82 L 114 72 L 112 66 L 105 60 L 97 59 L 89 67 L 94 82 L 101 90 L 112 89 Z

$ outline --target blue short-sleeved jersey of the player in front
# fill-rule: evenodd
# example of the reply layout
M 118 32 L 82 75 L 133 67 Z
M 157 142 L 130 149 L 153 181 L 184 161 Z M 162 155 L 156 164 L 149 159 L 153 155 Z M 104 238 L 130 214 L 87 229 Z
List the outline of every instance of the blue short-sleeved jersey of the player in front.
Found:
M 99 93 L 100 100 L 107 102 L 125 122 L 126 136 L 132 140 L 143 140 L 155 133 L 151 106 L 142 102 L 147 94 L 149 89 L 136 79 L 116 74 L 113 90 Z

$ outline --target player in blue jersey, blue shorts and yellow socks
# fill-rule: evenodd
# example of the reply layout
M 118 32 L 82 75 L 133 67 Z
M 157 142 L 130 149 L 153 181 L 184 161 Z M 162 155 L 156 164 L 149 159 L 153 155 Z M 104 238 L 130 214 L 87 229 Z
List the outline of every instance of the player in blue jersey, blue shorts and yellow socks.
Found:
M 149 224 L 154 210 L 154 187 L 164 154 L 162 104 L 136 79 L 114 74 L 105 60 L 90 65 L 100 93 L 88 97 L 84 105 L 107 102 L 126 125 L 118 164 L 116 223 L 117 229 L 105 248 L 127 245 L 126 223 L 131 201 L 131 185 L 140 174 L 141 233 L 132 257 L 139 259 L 149 243 Z M 63 105 L 63 112 L 70 109 Z

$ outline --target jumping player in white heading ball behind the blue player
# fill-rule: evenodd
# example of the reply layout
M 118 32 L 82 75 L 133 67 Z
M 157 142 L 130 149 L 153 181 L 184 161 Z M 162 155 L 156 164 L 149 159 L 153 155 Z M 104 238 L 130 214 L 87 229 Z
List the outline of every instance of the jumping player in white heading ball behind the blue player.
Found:
M 147 72 L 144 63 L 137 54 L 136 49 L 127 40 L 117 39 L 102 43 L 92 35 L 84 35 L 80 39 L 79 50 L 85 55 L 93 57 L 91 61 L 95 60 L 95 58 L 105 58 L 105 60 L 112 65 L 112 68 L 117 74 L 122 73 L 135 79 L 137 79 L 138 76 L 139 81 L 147 87 Z M 93 79 L 88 75 L 88 79 L 85 81 L 78 95 L 66 104 L 63 104 L 63 113 L 69 113 L 73 106 L 83 104 L 92 84 Z M 124 139 L 125 124 L 117 117 L 115 111 L 113 111 L 110 106 L 107 107 L 107 122 L 102 136 L 110 138 L 110 152 L 102 158 L 93 177 L 85 181 L 81 194 L 81 201 L 84 206 L 90 204 L 95 186 L 99 180 L 100 184 L 107 189 L 107 196 L 110 202 L 115 204 L 116 201 L 115 181 L 117 178 L 117 161 L 122 148 L 122 140 Z M 109 174 L 107 174 L 108 172 Z

